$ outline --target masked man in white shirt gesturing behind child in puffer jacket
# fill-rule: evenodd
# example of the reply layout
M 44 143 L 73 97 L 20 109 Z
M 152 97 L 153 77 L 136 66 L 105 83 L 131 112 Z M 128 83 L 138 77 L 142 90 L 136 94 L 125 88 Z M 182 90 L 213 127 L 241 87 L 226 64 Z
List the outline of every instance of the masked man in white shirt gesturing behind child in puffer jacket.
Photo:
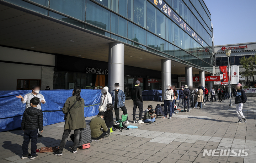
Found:
M 34 85 L 34 86 L 32 86 L 32 92 L 31 93 L 26 94 L 24 97 L 22 97 L 21 95 L 18 95 L 16 97 L 21 99 L 22 103 L 26 103 L 26 106 L 25 106 L 26 109 L 28 107 L 30 107 L 30 100 L 34 97 L 38 97 L 39 103 L 36 107 L 38 109 L 42 109 L 41 104 L 45 104 L 46 100 L 44 99 L 44 96 L 42 94 L 39 94 L 39 91 L 40 91 L 40 86 L 39 85 Z M 42 135 L 38 134 L 38 137 L 42 137 Z

